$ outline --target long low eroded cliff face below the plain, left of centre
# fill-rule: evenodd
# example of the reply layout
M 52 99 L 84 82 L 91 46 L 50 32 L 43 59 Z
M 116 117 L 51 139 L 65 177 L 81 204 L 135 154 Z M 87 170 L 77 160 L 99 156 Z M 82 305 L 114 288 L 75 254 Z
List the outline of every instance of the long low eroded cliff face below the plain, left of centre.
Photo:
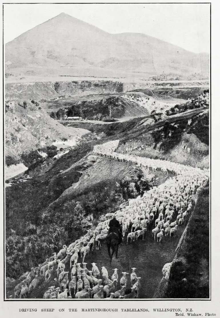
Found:
M 48 100 L 58 97 L 122 93 L 123 83 L 116 81 L 66 81 L 6 83 L 5 100 Z

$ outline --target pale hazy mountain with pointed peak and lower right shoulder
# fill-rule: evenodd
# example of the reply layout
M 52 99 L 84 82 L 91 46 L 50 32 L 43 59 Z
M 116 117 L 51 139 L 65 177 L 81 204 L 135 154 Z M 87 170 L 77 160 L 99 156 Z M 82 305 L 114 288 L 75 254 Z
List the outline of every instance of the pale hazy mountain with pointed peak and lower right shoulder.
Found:
M 196 54 L 141 33 L 110 34 L 61 13 L 5 45 L 6 72 L 108 76 L 141 73 L 207 75 L 208 54 Z

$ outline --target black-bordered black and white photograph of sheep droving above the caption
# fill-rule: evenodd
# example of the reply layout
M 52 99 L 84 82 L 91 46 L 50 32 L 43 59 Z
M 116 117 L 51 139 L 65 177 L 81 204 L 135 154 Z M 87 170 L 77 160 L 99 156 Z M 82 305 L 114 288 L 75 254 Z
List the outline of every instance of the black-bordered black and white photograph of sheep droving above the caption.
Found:
M 5 301 L 210 300 L 210 7 L 3 4 Z

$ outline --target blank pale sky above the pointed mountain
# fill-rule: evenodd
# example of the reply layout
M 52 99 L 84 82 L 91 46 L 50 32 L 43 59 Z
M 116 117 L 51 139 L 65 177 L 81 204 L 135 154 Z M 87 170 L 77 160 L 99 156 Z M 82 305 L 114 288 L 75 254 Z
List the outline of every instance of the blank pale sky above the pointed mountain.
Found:
M 188 51 L 210 51 L 210 5 L 4 4 L 4 43 L 65 12 L 109 33 L 138 32 Z

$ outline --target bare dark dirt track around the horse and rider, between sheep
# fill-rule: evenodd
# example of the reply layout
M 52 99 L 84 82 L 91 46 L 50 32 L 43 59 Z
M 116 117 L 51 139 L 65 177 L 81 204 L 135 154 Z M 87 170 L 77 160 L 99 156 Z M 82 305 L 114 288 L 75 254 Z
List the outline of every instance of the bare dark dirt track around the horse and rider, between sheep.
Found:
M 183 227 L 178 230 L 176 238 L 164 238 L 164 241 L 161 244 L 153 240 L 151 231 L 147 233 L 144 242 L 140 240 L 135 243 L 128 243 L 128 245 L 124 242 L 119 247 L 119 258 L 115 259 L 113 257 L 111 265 L 109 264 L 107 247 L 106 245 L 103 245 L 99 251 L 94 250 L 93 252 L 90 252 L 89 257 L 85 259 L 88 263 L 87 267 L 90 270 L 92 268 L 92 262 L 97 263 L 100 270 L 101 266 L 106 266 L 109 276 L 113 274 L 112 269 L 117 267 L 119 278 L 122 276 L 121 272 L 127 271 L 127 273 L 129 273 L 127 288 L 130 287 L 131 267 L 136 267 L 136 273 L 141 277 L 140 298 L 153 298 L 155 289 L 162 279 L 162 268 L 165 263 L 173 260 L 175 248 L 183 230 Z M 81 258 L 79 258 L 78 261 L 81 262 Z M 69 270 L 69 266 L 66 270 Z M 52 277 L 49 284 L 46 284 L 45 280 L 42 278 L 40 287 L 32 292 L 29 298 L 43 298 L 43 294 L 48 286 L 53 285 L 54 277 Z M 120 284 L 118 284 L 118 289 L 120 289 Z

